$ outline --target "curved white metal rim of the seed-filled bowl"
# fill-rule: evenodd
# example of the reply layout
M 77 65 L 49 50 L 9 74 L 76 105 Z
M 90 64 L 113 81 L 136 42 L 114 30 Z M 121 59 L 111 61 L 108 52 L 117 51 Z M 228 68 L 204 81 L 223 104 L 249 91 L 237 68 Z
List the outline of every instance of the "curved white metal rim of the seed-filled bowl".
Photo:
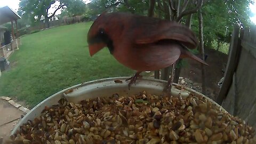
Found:
M 167 82 L 161 79 L 154 79 L 154 78 L 142 78 L 138 79 L 136 85 L 131 86 L 131 90 L 128 90 L 128 82 L 125 82 L 125 79 L 128 77 L 112 77 L 112 78 L 103 78 L 98 79 L 91 82 L 86 82 L 82 84 L 77 84 L 67 89 L 64 89 L 58 93 L 51 95 L 49 98 L 43 100 L 42 102 L 38 103 L 33 109 L 29 111 L 21 120 L 20 122 L 14 127 L 11 135 L 19 130 L 19 127 L 27 123 L 28 120 L 34 120 L 35 117 L 41 115 L 41 111 L 45 108 L 45 106 L 50 107 L 52 105 L 57 105 L 58 101 L 62 97 L 66 97 L 69 102 L 79 102 L 81 100 L 90 99 L 90 98 L 97 98 L 97 97 L 109 97 L 112 94 L 119 94 L 122 96 L 138 94 L 139 92 L 145 90 L 147 93 L 161 95 L 163 94 L 163 89 L 166 86 Z M 117 81 L 118 80 L 118 81 Z M 173 83 L 173 85 L 178 85 Z M 188 87 L 183 86 L 183 91 L 175 89 L 174 86 L 172 88 L 172 95 L 174 97 L 178 97 L 179 93 L 181 94 L 182 98 L 186 98 L 189 93 L 194 93 L 195 95 L 202 95 L 207 100 L 211 101 L 215 105 L 219 106 L 216 102 L 207 98 L 205 95 L 192 90 Z M 222 110 L 225 110 L 221 108 Z M 226 111 L 226 110 L 225 110 Z

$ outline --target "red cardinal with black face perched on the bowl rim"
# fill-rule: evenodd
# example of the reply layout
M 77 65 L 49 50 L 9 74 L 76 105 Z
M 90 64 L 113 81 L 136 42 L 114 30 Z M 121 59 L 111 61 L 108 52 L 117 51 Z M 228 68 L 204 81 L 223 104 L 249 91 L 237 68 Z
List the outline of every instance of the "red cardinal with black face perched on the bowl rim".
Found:
M 129 90 L 131 84 L 142 77 L 142 71 L 166 68 L 179 58 L 191 58 L 207 65 L 188 51 L 198 45 L 193 31 L 174 21 L 105 12 L 93 22 L 87 42 L 91 56 L 107 46 L 117 61 L 137 70 L 136 74 L 126 79 L 130 81 Z

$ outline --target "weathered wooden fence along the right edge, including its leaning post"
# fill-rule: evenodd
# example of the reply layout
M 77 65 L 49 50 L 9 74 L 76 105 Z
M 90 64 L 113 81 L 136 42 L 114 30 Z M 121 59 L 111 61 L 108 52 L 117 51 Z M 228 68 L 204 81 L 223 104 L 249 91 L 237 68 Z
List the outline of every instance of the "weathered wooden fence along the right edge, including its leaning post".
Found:
M 235 28 L 217 103 L 256 129 L 256 26 Z

